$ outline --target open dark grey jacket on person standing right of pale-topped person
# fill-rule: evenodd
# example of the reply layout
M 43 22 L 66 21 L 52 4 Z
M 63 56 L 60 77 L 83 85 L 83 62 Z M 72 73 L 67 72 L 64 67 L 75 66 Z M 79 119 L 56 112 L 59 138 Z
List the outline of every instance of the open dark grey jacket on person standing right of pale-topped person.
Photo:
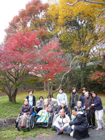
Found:
M 70 98 L 69 98 L 69 107 L 72 108 L 72 105 L 73 105 L 73 94 L 74 93 L 71 93 L 70 94 Z M 77 105 L 77 101 L 79 101 L 79 94 L 76 92 L 74 94 L 74 106 Z

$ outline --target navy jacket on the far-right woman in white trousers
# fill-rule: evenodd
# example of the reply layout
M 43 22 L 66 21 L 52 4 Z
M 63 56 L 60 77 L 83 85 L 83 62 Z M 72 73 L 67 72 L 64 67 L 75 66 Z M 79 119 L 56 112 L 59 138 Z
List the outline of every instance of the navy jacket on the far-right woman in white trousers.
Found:
M 94 104 L 95 110 L 102 110 L 103 109 L 102 101 L 101 101 L 101 98 L 99 96 L 96 96 L 95 98 L 93 98 L 93 104 Z

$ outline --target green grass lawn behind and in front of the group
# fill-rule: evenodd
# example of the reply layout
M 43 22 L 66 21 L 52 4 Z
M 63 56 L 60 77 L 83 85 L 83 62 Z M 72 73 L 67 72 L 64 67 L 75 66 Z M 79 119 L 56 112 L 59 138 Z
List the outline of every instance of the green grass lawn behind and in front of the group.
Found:
M 19 93 L 17 95 L 17 102 L 16 103 L 10 103 L 8 100 L 8 96 L 0 96 L 0 119 L 5 118 L 16 118 L 18 116 L 18 113 L 20 112 L 20 109 L 23 105 L 23 100 L 28 95 L 27 92 Z M 48 92 L 45 91 L 36 91 L 34 93 L 34 96 L 36 97 L 36 100 L 39 99 L 39 96 L 43 96 L 44 98 L 47 97 Z M 69 93 L 67 94 L 69 99 Z M 56 98 L 57 93 L 54 94 L 54 97 Z M 103 106 L 105 107 L 105 95 L 99 94 L 99 96 L 102 99 Z M 104 121 L 105 121 L 105 115 L 104 115 Z M 54 134 L 55 131 L 52 131 L 51 128 L 37 128 L 35 127 L 30 132 L 24 132 L 24 131 L 17 131 L 17 129 L 12 127 L 5 127 L 0 131 L 0 140 L 21 140 L 26 139 L 28 137 L 35 137 L 37 135 L 43 136 L 49 136 L 51 134 Z

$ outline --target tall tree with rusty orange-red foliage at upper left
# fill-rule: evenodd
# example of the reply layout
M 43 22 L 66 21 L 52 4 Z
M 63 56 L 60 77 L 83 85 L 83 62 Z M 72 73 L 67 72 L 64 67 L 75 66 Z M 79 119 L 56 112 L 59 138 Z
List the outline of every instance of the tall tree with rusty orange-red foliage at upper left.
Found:
M 13 33 L 26 31 L 35 31 L 41 41 L 48 38 L 46 11 L 48 4 L 42 4 L 40 0 L 32 0 L 25 9 L 19 11 L 9 23 L 9 27 L 5 30 L 5 41 L 12 36 Z

